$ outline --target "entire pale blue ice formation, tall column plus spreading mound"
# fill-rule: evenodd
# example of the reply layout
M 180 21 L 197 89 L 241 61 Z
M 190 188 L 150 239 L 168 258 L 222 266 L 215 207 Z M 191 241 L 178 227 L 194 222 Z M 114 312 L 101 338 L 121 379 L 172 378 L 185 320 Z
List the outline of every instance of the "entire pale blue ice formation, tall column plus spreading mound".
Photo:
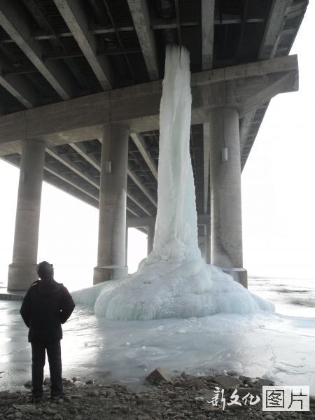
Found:
M 190 116 L 189 54 L 185 48 L 169 45 L 160 104 L 153 251 L 135 274 L 73 292 L 76 302 L 94 304 L 99 316 L 127 321 L 274 311 L 272 303 L 253 295 L 201 258 L 190 160 Z

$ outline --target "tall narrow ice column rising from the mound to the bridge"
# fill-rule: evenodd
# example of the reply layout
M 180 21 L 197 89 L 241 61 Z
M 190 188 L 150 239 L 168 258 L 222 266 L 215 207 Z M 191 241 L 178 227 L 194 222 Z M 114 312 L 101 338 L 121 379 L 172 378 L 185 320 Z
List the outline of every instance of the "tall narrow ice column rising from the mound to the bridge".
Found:
M 190 160 L 189 53 L 170 45 L 160 104 L 158 213 L 151 259 L 199 258 L 193 167 Z

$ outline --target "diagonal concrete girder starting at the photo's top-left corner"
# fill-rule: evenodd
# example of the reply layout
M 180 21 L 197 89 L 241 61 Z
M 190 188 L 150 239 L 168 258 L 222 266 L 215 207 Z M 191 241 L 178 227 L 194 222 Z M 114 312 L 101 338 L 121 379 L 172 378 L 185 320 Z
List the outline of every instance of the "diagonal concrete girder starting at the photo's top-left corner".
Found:
M 43 77 L 50 83 L 62 99 L 70 99 L 72 94 L 72 83 L 66 67 L 60 63 L 45 62 L 44 51 L 41 43 L 32 39 L 31 27 L 23 19 L 23 13 L 19 5 L 12 1 L 0 0 L 0 22 L 1 27 L 15 41 L 22 52 L 38 69 Z

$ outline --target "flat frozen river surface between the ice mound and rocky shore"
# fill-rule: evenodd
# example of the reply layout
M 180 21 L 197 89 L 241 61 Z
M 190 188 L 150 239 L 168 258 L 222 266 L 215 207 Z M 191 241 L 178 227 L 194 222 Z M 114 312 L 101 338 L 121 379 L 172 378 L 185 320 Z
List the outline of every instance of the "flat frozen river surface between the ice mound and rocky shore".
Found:
M 236 370 L 279 384 L 309 385 L 315 395 L 315 281 L 251 279 L 275 314 L 109 321 L 78 305 L 64 325 L 64 377 L 141 384 L 157 366 L 168 372 Z M 0 389 L 30 379 L 31 349 L 20 302 L 0 301 Z M 48 367 L 45 367 L 48 375 Z

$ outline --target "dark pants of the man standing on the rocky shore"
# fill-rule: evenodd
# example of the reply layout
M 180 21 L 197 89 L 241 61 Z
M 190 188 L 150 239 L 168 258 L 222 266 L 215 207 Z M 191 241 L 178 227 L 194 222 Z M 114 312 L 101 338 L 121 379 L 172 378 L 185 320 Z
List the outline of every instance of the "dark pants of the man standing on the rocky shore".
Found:
M 50 389 L 52 395 L 62 393 L 62 360 L 60 340 L 52 342 L 31 342 L 31 380 L 34 397 L 43 395 L 43 368 L 45 366 L 45 351 L 47 350 Z

